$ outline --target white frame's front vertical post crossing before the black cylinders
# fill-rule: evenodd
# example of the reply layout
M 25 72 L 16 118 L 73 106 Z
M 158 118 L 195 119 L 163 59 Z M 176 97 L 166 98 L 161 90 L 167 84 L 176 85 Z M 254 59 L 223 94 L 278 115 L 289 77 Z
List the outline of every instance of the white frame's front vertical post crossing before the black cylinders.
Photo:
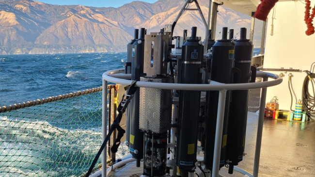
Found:
M 219 177 L 225 97 L 226 97 L 226 90 L 221 90 L 219 94 L 216 138 L 215 138 L 214 154 L 213 154 L 212 177 Z

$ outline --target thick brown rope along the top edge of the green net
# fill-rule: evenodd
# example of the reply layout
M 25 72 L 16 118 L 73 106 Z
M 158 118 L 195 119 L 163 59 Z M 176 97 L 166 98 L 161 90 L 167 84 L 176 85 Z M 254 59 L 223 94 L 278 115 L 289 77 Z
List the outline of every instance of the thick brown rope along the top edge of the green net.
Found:
M 112 89 L 114 87 L 115 87 L 115 85 L 108 85 L 107 89 Z M 102 90 L 103 90 L 103 87 L 97 87 L 97 88 L 92 88 L 89 90 L 83 90 L 83 91 L 79 91 L 79 92 L 66 94 L 66 95 L 59 95 L 56 97 L 47 97 L 47 98 L 43 98 L 43 99 L 27 101 L 27 102 L 23 102 L 23 103 L 14 104 L 14 105 L 3 106 L 2 108 L 0 107 L 0 113 L 15 111 L 15 110 L 23 109 L 23 108 L 29 108 L 32 106 L 51 103 L 51 102 L 55 102 L 55 101 L 59 101 L 59 100 L 67 99 L 67 98 L 79 97 L 82 95 L 88 95 L 88 94 L 92 94 L 95 92 L 100 92 Z

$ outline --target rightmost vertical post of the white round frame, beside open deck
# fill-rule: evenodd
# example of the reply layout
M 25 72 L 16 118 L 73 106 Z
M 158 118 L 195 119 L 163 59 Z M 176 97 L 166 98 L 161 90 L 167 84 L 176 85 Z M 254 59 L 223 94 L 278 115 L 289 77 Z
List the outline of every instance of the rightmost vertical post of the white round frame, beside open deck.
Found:
M 263 81 L 268 81 L 268 77 L 266 77 L 266 76 L 263 77 Z M 253 177 L 258 177 L 261 140 L 262 140 L 262 136 L 263 136 L 263 126 L 264 126 L 266 95 L 267 95 L 267 88 L 262 88 L 261 89 L 261 96 L 260 96 L 260 106 L 259 106 L 259 118 L 258 118 L 258 127 L 257 127 L 254 169 L 253 169 L 253 173 L 252 173 Z

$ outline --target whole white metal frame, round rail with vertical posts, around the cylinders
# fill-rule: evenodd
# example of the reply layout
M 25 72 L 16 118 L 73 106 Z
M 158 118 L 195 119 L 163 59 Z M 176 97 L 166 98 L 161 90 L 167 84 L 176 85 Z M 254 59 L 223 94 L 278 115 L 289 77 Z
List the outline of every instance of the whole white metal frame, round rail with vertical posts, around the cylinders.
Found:
M 115 70 L 110 70 L 110 71 L 105 72 L 102 77 L 103 88 L 107 88 L 108 81 L 112 83 L 122 84 L 122 85 L 130 85 L 132 82 L 132 80 L 130 80 L 131 75 L 122 74 L 122 73 L 125 73 L 125 69 L 115 69 Z M 278 85 L 283 81 L 283 79 L 279 75 L 266 73 L 266 72 L 260 72 L 260 71 L 257 71 L 256 77 L 263 78 L 263 81 L 257 82 L 257 83 L 236 83 L 236 84 L 222 84 L 215 81 L 210 81 L 209 84 L 154 83 L 154 82 L 137 81 L 136 86 L 144 87 L 144 88 L 169 89 L 169 90 L 199 90 L 199 91 L 217 90 L 217 91 L 220 91 L 212 177 L 221 176 L 219 175 L 219 170 L 220 170 L 219 165 L 220 165 L 221 141 L 222 141 L 222 129 L 223 129 L 226 91 L 262 88 L 261 97 L 260 97 L 259 120 L 258 120 L 258 128 L 257 128 L 257 139 L 256 139 L 253 175 L 251 174 L 249 175 L 248 172 L 235 167 L 236 171 L 243 175 L 247 175 L 250 177 L 258 177 L 267 87 Z M 271 78 L 274 80 L 268 81 L 268 78 Z M 103 141 L 104 141 L 107 135 L 107 89 L 103 89 L 102 100 L 103 100 L 103 113 L 102 113 L 103 134 L 102 135 L 103 135 Z M 106 164 L 106 161 L 107 161 L 106 158 L 107 157 L 106 157 L 106 148 L 105 148 L 102 153 L 102 164 Z M 106 177 L 106 175 L 107 175 L 106 168 L 102 168 L 102 177 Z

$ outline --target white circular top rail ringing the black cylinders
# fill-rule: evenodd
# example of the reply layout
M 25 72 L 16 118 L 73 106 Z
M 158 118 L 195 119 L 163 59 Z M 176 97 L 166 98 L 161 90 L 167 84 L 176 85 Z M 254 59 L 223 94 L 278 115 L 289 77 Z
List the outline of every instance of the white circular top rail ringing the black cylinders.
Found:
M 111 70 L 108 72 L 105 72 L 103 74 L 103 79 L 118 83 L 122 85 L 130 85 L 132 80 L 123 80 L 123 79 L 117 79 L 108 76 L 108 74 L 113 73 L 120 73 L 125 72 L 125 69 L 117 69 L 117 70 Z M 276 74 L 271 73 L 265 73 L 265 72 L 257 72 L 256 77 L 268 77 L 275 80 L 271 80 L 268 82 L 257 82 L 257 83 L 234 83 L 234 84 L 184 84 L 184 83 L 155 83 L 155 82 L 143 82 L 143 81 L 137 81 L 136 86 L 137 87 L 144 87 L 144 88 L 154 88 L 154 89 L 168 89 L 168 90 L 200 90 L 200 91 L 206 91 L 206 90 L 248 90 L 248 89 L 256 89 L 256 88 L 264 88 L 264 87 L 270 87 L 280 84 L 283 79 Z

